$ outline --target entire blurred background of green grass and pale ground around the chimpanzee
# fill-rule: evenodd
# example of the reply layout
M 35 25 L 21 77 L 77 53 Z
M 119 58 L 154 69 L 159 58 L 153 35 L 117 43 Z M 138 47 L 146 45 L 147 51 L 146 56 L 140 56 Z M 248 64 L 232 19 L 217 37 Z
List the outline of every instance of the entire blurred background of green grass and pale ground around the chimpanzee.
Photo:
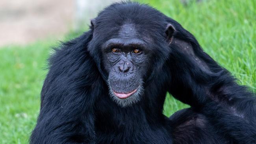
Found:
M 136 0 L 178 21 L 241 85 L 256 92 L 256 0 Z M 117 0 L 0 0 L 0 144 L 26 144 L 47 58 Z M 164 114 L 187 107 L 169 94 Z

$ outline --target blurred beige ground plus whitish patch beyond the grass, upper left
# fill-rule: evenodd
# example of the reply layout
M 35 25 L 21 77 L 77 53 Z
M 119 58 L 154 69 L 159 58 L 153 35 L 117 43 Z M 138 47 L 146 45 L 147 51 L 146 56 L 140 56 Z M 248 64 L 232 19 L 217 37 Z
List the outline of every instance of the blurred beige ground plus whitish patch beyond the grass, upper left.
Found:
M 27 44 L 86 28 L 89 19 L 117 0 L 1 0 L 0 46 Z

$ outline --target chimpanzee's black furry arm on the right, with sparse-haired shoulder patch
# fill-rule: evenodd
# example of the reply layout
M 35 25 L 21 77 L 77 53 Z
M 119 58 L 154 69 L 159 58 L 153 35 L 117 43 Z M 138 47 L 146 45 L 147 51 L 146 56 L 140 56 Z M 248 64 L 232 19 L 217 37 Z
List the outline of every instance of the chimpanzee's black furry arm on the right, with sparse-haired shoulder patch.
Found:
M 174 20 L 169 92 L 203 114 L 219 133 L 239 144 L 256 143 L 256 97 L 219 66 Z M 169 36 L 170 37 L 170 36 Z

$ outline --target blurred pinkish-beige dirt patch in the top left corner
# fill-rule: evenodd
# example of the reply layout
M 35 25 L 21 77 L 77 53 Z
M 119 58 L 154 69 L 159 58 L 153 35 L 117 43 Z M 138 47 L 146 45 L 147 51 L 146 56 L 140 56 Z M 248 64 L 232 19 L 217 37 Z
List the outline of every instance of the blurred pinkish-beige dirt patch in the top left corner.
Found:
M 62 35 L 74 21 L 74 0 L 0 0 L 0 46 Z

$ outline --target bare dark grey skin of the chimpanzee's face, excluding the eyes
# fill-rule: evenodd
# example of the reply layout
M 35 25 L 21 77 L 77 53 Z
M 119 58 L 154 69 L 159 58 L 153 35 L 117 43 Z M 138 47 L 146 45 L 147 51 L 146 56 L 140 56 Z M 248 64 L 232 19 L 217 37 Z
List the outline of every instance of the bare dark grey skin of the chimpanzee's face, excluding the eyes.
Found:
M 142 37 L 133 24 L 124 24 L 119 34 L 103 45 L 109 94 L 122 107 L 138 102 L 143 95 L 147 51 Z M 113 52 L 113 48 L 117 51 Z M 139 53 L 134 50 L 139 50 Z

